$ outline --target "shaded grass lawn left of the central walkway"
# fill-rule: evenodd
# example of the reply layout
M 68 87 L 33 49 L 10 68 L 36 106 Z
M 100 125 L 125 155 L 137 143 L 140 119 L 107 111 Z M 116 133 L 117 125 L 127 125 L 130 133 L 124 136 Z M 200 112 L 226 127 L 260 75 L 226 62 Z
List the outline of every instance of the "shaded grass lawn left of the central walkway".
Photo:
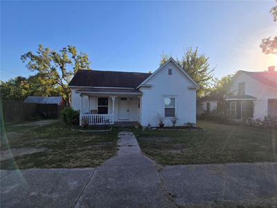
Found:
M 31 124 L 31 123 L 30 123 Z M 1 168 L 80 168 L 99 166 L 116 153 L 118 129 L 73 132 L 61 121 L 46 125 L 7 125 L 1 132 Z M 8 142 L 7 142 L 8 141 Z

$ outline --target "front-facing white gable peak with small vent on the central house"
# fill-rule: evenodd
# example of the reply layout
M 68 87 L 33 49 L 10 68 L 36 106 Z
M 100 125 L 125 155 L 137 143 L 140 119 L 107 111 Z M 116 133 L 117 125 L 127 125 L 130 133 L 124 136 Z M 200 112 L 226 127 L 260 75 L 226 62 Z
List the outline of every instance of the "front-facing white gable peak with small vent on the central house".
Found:
M 170 73 L 168 70 L 172 70 L 172 75 L 168 74 L 168 73 Z M 151 87 L 153 80 L 156 79 L 158 76 L 161 76 L 161 74 L 163 74 L 163 79 L 161 79 L 162 81 L 164 80 L 166 82 L 168 80 L 168 81 L 174 82 L 175 81 L 174 79 L 181 78 L 184 81 L 184 83 L 187 83 L 188 88 L 190 88 L 190 89 L 199 88 L 199 85 L 197 85 L 197 83 L 195 83 L 193 78 L 191 78 L 188 75 L 188 73 L 186 73 L 186 71 L 181 69 L 181 67 L 179 67 L 177 62 L 175 62 L 175 60 L 173 60 L 173 58 L 170 58 L 165 64 L 163 64 L 161 67 L 159 67 L 159 69 L 154 71 L 154 73 L 152 73 L 151 76 L 146 78 L 141 83 L 141 85 L 139 85 L 139 87 Z M 166 84 L 166 83 L 163 83 L 163 84 Z

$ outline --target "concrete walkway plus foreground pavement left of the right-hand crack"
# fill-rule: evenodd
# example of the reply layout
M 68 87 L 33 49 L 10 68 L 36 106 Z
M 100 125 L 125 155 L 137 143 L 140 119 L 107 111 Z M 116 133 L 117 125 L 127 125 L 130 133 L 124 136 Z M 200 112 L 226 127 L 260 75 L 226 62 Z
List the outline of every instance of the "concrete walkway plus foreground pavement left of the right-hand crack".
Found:
M 155 164 L 132 132 L 97 168 L 1 170 L 1 207 L 166 207 Z

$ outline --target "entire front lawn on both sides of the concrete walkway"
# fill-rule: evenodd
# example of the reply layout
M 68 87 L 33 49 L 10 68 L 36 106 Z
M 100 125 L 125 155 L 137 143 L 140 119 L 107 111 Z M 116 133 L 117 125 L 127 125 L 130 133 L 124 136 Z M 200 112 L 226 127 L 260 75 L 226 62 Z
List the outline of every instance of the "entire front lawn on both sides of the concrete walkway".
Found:
M 130 130 L 136 135 L 143 153 L 163 165 L 277 161 L 277 130 L 211 121 L 197 124 L 202 131 Z M 36 127 L 32 123 L 6 125 L 6 132 L 1 132 L 2 152 L 10 148 L 44 151 L 6 159 L 1 161 L 1 168 L 99 166 L 116 153 L 119 130 L 74 132 L 61 121 Z

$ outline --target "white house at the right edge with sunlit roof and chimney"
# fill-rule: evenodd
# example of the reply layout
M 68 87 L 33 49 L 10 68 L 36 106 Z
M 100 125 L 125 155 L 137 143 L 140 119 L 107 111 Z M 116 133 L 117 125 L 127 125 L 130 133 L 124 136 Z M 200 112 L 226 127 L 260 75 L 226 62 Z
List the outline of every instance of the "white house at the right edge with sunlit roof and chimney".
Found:
M 239 119 L 244 114 L 245 103 L 253 101 L 255 119 L 277 117 L 277 71 L 238 71 L 231 80 L 231 93 L 226 98 L 230 111 Z

